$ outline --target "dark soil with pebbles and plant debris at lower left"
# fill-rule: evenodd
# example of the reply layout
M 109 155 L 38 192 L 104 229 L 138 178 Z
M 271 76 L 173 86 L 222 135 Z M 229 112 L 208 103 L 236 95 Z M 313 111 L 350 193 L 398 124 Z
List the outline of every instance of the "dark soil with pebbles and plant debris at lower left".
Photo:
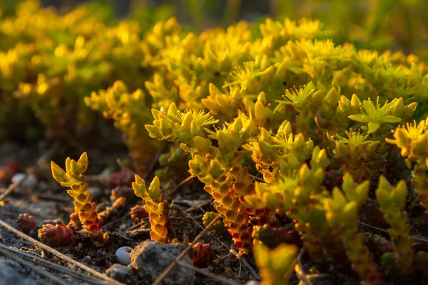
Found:
M 49 147 L 50 145 L 47 143 L 39 143 L 38 145 L 17 145 L 11 142 L 1 143 L 0 166 L 11 160 L 19 160 L 19 172 L 26 172 L 29 167 L 35 165 L 36 161 L 39 157 L 44 155 L 46 150 L 49 150 Z M 115 162 L 118 157 L 126 157 L 126 152 L 123 150 L 111 157 L 95 149 L 89 149 L 87 152 L 89 156 L 89 168 L 86 174 L 88 175 L 99 174 L 106 169 L 106 167 L 116 167 L 112 162 Z M 70 155 L 70 153 L 68 153 L 68 155 Z M 70 156 L 72 155 L 73 154 Z M 64 161 L 65 157 L 66 152 L 60 148 L 52 160 L 58 163 Z M 72 157 L 78 157 L 77 150 L 76 154 Z M 93 163 L 96 161 L 97 163 Z M 58 163 L 58 165 L 61 164 Z M 40 227 L 41 224 L 47 222 L 63 222 L 66 224 L 68 222 L 68 215 L 73 211 L 73 199 L 68 197 L 66 189 L 56 184 L 56 182 L 49 177 L 49 164 L 45 162 L 45 165 L 42 166 L 46 167 L 46 175 L 44 177 L 38 177 L 41 179 L 39 179 L 36 187 L 32 189 L 17 187 L 4 199 L 4 205 L 0 206 L 0 219 L 16 229 L 19 229 L 16 218 L 22 213 L 33 215 Z M 116 167 L 116 170 L 119 170 L 118 167 Z M 0 184 L 0 195 L 9 185 L 10 182 Z M 111 190 L 108 190 L 107 187 L 91 185 L 91 191 L 94 192 L 94 202 L 97 204 L 111 204 L 109 199 Z M 168 197 L 168 193 L 165 193 L 165 197 Z M 203 212 L 214 210 L 213 202 L 210 204 L 205 203 L 205 206 L 197 207 L 188 213 L 184 211 L 185 209 L 210 200 L 210 195 L 203 190 L 202 185 L 197 184 L 181 187 L 180 190 L 173 194 L 173 198 L 170 199 L 170 197 L 168 197 L 169 201 L 172 199 L 174 199 L 174 202 L 172 209 L 170 209 L 169 224 L 172 237 L 176 239 L 176 242 L 183 242 L 184 239 L 192 241 L 203 230 Z M 131 207 L 135 205 L 135 203 L 141 204 L 141 201 L 133 199 L 133 204 L 128 206 Z M 150 224 L 148 224 L 147 219 L 141 221 L 138 229 L 127 230 L 130 227 L 135 228 L 138 223 L 126 215 L 126 212 L 127 211 L 113 212 L 111 218 L 106 221 L 106 226 L 108 226 L 107 231 L 110 235 L 110 244 L 108 247 L 96 247 L 88 237 L 79 233 L 74 233 L 70 244 L 56 247 L 55 249 L 97 271 L 105 272 L 106 269 L 117 262 L 115 255 L 116 249 L 119 247 L 134 248 L 144 240 L 150 239 L 148 235 Z M 123 213 L 125 214 L 125 218 L 121 219 L 120 222 L 114 223 L 115 219 L 123 217 Z M 36 234 L 36 230 L 29 233 L 31 237 L 37 239 Z M 208 232 L 199 242 L 211 244 L 211 248 L 214 252 L 213 261 L 203 270 L 226 276 L 235 281 L 245 282 L 253 278 L 250 271 L 242 264 L 242 261 L 229 252 L 229 249 L 233 248 L 233 243 L 227 233 L 215 236 Z M 55 257 L 53 254 L 39 249 L 38 247 L 34 247 L 31 242 L 21 239 L 4 227 L 0 227 L 0 243 L 4 244 L 6 247 L 34 254 L 49 261 L 54 261 L 62 266 L 68 266 L 70 269 L 81 271 L 76 265 L 68 264 L 58 259 L 58 257 Z M 249 261 L 253 263 L 252 260 Z M 39 266 L 36 261 L 33 263 Z M 252 266 L 255 268 L 255 264 L 252 264 Z M 52 274 L 57 274 L 57 272 L 51 269 L 46 270 L 50 271 Z M 54 284 L 53 281 L 31 271 L 31 269 L 26 266 L 21 266 L 16 263 L 16 261 L 11 261 L 8 258 L 2 257 L 0 254 L 0 273 L 3 271 L 14 272 L 13 276 L 6 276 L 9 278 L 8 280 L 13 280 L 13 284 Z M 198 273 L 195 274 L 195 276 L 194 284 L 220 284 L 220 282 L 209 279 Z M 19 283 L 14 282 L 15 280 L 19 280 Z M 66 280 L 68 284 L 81 284 L 81 281 L 78 279 L 66 278 L 64 280 Z M 134 284 L 137 281 L 138 280 L 133 280 L 131 283 Z

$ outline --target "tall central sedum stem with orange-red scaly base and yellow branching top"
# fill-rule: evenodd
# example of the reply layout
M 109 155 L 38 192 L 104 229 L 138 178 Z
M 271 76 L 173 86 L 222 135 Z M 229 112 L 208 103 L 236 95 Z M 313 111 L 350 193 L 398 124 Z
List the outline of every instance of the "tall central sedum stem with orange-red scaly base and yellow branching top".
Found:
M 178 140 L 183 150 L 192 154 L 190 174 L 205 182 L 205 191 L 213 195 L 235 246 L 245 250 L 252 229 L 248 225 L 248 210 L 245 211 L 238 198 L 253 191 L 253 183 L 248 169 L 240 164 L 242 154 L 237 148 L 240 140 L 249 135 L 250 121 L 243 123 L 237 119 L 228 128 L 209 132 L 209 126 L 217 120 L 202 111 L 180 112 L 174 103 L 167 113 L 153 110 L 153 116 L 154 125 L 146 125 L 148 133 L 152 138 Z M 218 140 L 218 147 L 212 145 L 209 137 Z

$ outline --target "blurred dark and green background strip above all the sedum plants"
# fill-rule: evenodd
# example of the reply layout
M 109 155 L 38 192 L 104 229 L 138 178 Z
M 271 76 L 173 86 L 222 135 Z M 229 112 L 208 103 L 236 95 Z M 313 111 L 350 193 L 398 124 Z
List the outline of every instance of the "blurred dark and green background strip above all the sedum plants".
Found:
M 3 14 L 13 14 L 21 0 L 0 1 Z M 89 0 L 42 0 L 66 13 Z M 428 59 L 427 0 L 98 0 L 111 20 L 131 16 L 143 26 L 175 16 L 190 30 L 227 26 L 239 20 L 257 24 L 274 19 L 320 19 L 335 43 L 358 48 L 415 53 Z M 101 11 L 98 11 L 101 13 Z

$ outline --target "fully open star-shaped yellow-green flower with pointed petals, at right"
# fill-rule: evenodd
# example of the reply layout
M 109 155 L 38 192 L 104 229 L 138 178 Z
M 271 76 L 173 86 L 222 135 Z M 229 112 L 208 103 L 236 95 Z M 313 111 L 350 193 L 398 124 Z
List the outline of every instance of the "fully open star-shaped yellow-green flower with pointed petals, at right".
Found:
M 377 97 L 376 107 L 374 106 L 372 100 L 364 100 L 362 102 L 362 108 L 365 113 L 350 115 L 348 118 L 351 120 L 356 120 L 357 122 L 368 123 L 370 133 L 374 133 L 379 129 L 380 124 L 382 123 L 397 123 L 401 121 L 401 118 L 398 118 L 394 115 L 388 115 L 391 109 L 394 107 L 394 103 L 397 99 L 392 100 L 391 103 L 385 102 L 385 104 L 380 107 L 379 97 Z

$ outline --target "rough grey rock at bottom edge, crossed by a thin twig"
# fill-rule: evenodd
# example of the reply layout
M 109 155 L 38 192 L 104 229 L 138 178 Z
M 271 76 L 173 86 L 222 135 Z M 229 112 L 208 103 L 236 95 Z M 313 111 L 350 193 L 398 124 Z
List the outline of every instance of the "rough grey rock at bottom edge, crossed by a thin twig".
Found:
M 163 270 L 185 249 L 181 244 L 158 244 L 157 242 L 145 241 L 131 252 L 131 265 L 137 269 L 138 278 L 143 278 L 152 283 L 161 275 Z M 181 259 L 189 265 L 192 260 L 188 255 Z M 186 284 L 193 285 L 195 272 L 183 266 L 175 268 L 163 279 L 161 284 Z

